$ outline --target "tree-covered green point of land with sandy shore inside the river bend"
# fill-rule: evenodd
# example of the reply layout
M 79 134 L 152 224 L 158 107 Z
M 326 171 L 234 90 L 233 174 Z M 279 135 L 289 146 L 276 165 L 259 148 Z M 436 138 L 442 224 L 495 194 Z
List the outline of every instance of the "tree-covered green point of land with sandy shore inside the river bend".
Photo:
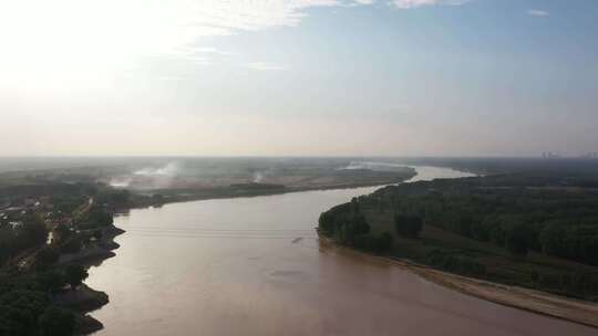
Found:
M 390 186 L 323 212 L 317 230 L 455 290 L 598 326 L 595 172 Z

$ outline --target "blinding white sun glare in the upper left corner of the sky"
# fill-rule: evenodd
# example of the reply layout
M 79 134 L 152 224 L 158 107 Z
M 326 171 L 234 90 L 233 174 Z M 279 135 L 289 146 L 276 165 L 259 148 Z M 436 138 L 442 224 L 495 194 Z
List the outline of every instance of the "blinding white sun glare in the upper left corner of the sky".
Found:
M 48 86 L 107 78 L 192 42 L 197 31 L 186 18 L 183 8 L 156 1 L 3 3 L 1 81 Z

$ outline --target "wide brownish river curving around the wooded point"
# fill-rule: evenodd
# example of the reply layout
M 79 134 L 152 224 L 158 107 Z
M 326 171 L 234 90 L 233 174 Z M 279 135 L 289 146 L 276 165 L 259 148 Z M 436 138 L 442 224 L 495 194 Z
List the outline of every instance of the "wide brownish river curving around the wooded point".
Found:
M 415 179 L 465 174 L 417 167 Z M 116 256 L 86 283 L 110 304 L 97 335 L 598 335 L 320 244 L 320 212 L 377 188 L 133 210 Z

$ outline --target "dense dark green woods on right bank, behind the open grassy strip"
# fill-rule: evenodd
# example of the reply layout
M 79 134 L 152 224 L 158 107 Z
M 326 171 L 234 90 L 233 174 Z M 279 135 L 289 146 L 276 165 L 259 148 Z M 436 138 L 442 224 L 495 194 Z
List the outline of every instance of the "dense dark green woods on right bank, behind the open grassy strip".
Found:
M 515 180 L 519 183 L 519 177 Z M 568 187 L 512 187 L 474 178 L 389 187 L 364 201 L 424 224 L 491 242 L 513 255 L 543 252 L 598 265 L 598 192 Z

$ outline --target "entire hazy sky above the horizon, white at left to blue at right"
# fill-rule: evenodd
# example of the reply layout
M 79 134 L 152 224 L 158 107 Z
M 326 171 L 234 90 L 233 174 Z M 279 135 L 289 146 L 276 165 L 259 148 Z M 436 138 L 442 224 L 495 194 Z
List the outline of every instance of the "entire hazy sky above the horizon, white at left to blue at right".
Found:
M 0 2 L 0 156 L 598 151 L 596 0 Z

